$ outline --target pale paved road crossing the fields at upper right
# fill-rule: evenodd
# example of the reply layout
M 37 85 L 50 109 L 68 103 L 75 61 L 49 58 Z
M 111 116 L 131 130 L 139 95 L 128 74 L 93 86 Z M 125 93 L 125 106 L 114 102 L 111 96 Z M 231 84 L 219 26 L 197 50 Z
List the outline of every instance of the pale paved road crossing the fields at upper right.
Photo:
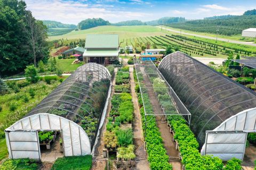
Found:
M 157 27 L 161 28 L 160 26 L 157 26 Z M 163 28 L 163 29 L 165 29 L 167 31 L 180 33 L 180 31 L 173 30 L 173 29 L 170 29 L 170 28 Z M 207 39 L 213 39 L 213 40 L 216 39 L 215 37 L 202 36 L 202 35 L 197 35 L 195 33 L 182 32 L 182 34 L 189 35 L 189 36 L 201 37 L 201 38 L 207 38 Z M 236 40 L 230 40 L 230 39 L 224 39 L 224 38 L 218 38 L 218 40 L 225 41 L 225 42 L 228 42 L 228 43 L 235 43 L 235 44 L 242 44 L 242 45 L 249 45 L 249 46 L 255 46 L 256 47 L 256 44 L 254 44 L 254 42 L 236 41 Z

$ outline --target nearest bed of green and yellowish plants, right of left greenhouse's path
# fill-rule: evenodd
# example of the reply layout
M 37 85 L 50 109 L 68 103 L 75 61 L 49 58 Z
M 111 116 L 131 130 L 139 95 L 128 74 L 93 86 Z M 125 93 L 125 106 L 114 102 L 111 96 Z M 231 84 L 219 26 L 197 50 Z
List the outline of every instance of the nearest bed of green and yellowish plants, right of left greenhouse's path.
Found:
M 118 150 L 117 157 L 123 160 L 135 158 L 133 145 L 133 132 L 131 128 L 121 129 L 122 124 L 133 121 L 132 96 L 127 93 L 114 94 L 111 99 L 111 111 L 106 125 L 107 131 L 104 133 L 104 144 L 108 149 Z

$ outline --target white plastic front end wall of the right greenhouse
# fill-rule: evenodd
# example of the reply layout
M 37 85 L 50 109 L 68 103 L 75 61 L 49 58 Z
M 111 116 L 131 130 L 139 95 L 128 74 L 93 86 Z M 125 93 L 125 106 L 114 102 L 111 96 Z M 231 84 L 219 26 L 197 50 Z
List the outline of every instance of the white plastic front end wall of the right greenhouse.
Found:
M 223 161 L 233 157 L 243 160 L 248 132 L 256 132 L 256 108 L 228 118 L 213 131 L 206 131 L 202 155 L 218 156 Z

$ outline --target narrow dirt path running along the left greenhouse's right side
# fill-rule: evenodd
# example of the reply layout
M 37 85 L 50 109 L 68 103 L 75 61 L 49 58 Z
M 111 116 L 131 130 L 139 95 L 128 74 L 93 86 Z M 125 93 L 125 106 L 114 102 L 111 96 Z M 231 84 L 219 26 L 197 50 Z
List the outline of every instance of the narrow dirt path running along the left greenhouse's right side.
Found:
M 103 148 L 104 148 L 104 142 L 103 142 L 103 134 L 104 132 L 106 132 L 106 124 L 107 124 L 107 117 L 109 116 L 109 112 L 111 110 L 111 97 L 113 96 L 115 89 L 115 82 L 116 82 L 116 73 L 117 73 L 117 69 L 115 69 L 115 76 L 114 79 L 112 80 L 112 89 L 111 89 L 111 94 L 110 94 L 110 99 L 109 99 L 109 103 L 108 103 L 108 108 L 107 108 L 107 114 L 105 117 L 105 123 L 103 125 L 103 130 L 101 132 L 100 135 L 100 144 L 97 148 L 95 148 L 94 150 L 94 157 L 93 157 L 93 163 L 92 163 L 92 168 L 91 169 L 95 169 L 95 170 L 103 170 L 106 167 L 106 159 L 103 158 Z

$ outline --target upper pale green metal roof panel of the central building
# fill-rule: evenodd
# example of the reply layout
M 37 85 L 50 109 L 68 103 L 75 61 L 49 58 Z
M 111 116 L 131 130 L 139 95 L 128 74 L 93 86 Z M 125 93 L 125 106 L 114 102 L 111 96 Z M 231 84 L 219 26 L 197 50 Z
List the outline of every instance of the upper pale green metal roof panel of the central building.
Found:
M 86 35 L 85 48 L 118 48 L 119 36 L 116 34 Z

